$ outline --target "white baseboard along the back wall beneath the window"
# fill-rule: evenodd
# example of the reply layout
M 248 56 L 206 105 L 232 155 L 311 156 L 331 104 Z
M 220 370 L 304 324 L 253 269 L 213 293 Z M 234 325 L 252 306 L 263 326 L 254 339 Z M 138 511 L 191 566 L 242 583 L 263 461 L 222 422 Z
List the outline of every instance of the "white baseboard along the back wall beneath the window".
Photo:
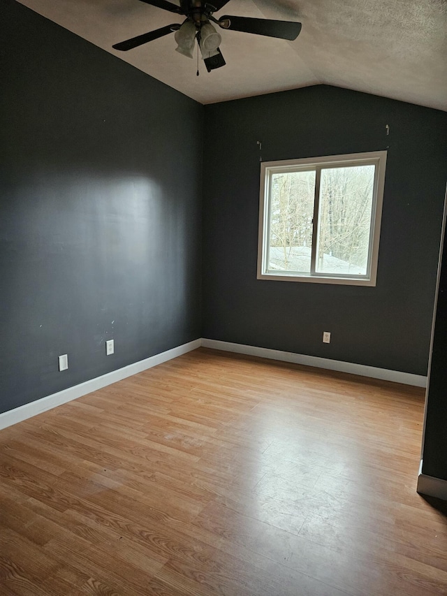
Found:
M 231 342 L 221 342 L 219 340 L 207 340 L 205 338 L 202 339 L 202 345 L 206 348 L 225 350 L 237 354 L 259 356 L 260 358 L 270 358 L 272 360 L 292 362 L 295 364 L 303 364 L 305 366 L 314 366 L 316 368 L 326 368 L 328 370 L 337 370 L 338 372 L 349 372 L 351 375 L 383 379 L 383 381 L 393 381 L 395 383 L 413 385 L 416 387 L 427 386 L 427 377 L 413 375 L 410 372 L 376 368 L 374 366 L 330 360 L 329 358 L 319 358 L 318 356 L 306 356 L 305 354 L 295 354 L 293 352 L 259 348 L 256 346 L 246 346 L 244 344 L 233 344 Z

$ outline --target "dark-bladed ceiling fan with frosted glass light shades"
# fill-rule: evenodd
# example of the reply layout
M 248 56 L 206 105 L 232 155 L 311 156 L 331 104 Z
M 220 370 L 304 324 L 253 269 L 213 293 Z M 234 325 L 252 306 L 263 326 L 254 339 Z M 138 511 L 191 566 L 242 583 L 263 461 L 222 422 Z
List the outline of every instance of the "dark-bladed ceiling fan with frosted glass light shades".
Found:
M 126 52 L 127 50 L 138 48 L 143 43 L 154 41 L 154 39 L 175 31 L 177 52 L 192 58 L 194 44 L 197 41 L 208 72 L 226 64 L 219 49 L 222 39 L 221 34 L 213 27 L 212 22 L 217 24 L 221 29 L 277 37 L 288 39 L 289 41 L 296 39 L 301 31 L 301 23 L 298 22 L 235 17 L 231 15 L 224 15 L 219 19 L 215 18 L 213 13 L 221 10 L 229 0 L 211 0 L 210 2 L 202 0 L 180 0 L 179 6 L 167 0 L 140 1 L 156 6 L 157 8 L 163 8 L 163 10 L 169 10 L 170 13 L 184 15 L 186 20 L 182 24 L 173 23 L 166 25 L 166 27 L 149 31 L 149 33 L 127 39 L 126 41 L 115 43 L 112 48 Z

